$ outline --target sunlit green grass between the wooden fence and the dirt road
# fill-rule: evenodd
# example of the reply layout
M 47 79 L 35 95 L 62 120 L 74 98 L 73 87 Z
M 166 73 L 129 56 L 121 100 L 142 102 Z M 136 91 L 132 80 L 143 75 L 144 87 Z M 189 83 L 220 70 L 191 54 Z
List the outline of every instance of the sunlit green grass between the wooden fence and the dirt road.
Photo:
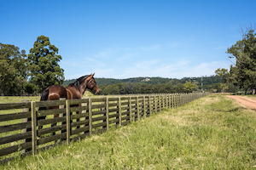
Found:
M 0 169 L 254 169 L 256 113 L 208 95 Z

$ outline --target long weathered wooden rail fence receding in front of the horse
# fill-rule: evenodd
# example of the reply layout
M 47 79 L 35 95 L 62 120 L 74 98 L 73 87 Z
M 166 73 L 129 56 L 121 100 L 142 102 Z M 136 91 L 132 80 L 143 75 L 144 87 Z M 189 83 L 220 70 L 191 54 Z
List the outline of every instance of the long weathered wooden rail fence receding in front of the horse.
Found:
M 147 94 L 0 104 L 0 161 L 34 155 L 54 144 L 70 144 L 205 95 L 207 93 Z M 58 109 L 38 111 L 39 107 L 49 106 L 58 106 Z M 54 118 L 55 114 L 59 117 Z M 46 119 L 37 121 L 38 116 Z M 52 123 L 57 126 L 51 127 Z M 39 126 L 43 128 L 38 129 Z

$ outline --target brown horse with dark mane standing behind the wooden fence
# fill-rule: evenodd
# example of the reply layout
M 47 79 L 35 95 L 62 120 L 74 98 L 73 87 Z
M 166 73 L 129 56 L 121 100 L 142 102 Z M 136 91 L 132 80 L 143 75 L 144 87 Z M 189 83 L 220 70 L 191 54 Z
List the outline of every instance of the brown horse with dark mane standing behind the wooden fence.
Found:
M 97 86 L 94 74 L 89 76 L 80 77 L 67 86 L 63 88 L 60 85 L 52 85 L 46 88 L 41 96 L 40 101 L 43 100 L 59 100 L 60 98 L 66 99 L 82 99 L 83 94 L 86 89 L 90 89 L 94 94 L 100 94 L 101 89 Z M 58 109 L 59 106 L 52 106 L 51 109 Z M 46 107 L 41 107 L 39 110 L 48 109 Z M 45 119 L 46 116 L 39 116 L 38 120 Z M 54 117 L 59 117 L 59 115 L 54 115 Z M 79 120 L 78 120 L 79 121 Z M 56 123 L 51 126 L 55 126 Z M 43 126 L 40 126 L 41 129 Z

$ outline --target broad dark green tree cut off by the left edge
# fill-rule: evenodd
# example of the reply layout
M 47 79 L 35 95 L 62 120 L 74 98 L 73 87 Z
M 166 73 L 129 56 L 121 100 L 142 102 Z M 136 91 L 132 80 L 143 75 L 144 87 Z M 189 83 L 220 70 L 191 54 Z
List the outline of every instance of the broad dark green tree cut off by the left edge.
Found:
M 26 51 L 0 42 L 0 90 L 4 95 L 18 95 L 26 82 Z

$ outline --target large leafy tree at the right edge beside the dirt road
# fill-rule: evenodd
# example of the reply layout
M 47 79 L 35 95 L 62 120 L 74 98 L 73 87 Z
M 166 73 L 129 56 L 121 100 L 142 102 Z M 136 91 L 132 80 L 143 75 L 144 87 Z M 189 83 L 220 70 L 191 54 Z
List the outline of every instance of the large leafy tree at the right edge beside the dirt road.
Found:
M 230 67 L 233 83 L 247 93 L 247 90 L 256 88 L 256 33 L 251 27 L 242 37 L 242 40 L 228 48 L 227 53 L 233 54 L 230 58 L 236 58 L 236 65 Z

